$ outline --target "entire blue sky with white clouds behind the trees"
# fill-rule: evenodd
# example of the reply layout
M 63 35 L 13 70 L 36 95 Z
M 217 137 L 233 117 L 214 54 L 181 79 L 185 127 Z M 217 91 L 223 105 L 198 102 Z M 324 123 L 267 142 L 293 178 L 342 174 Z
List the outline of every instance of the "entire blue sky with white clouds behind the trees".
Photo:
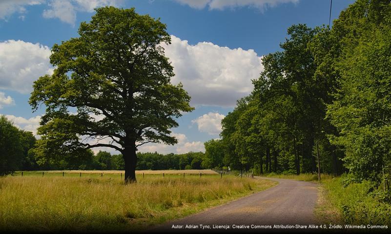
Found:
M 333 2 L 331 18 L 353 0 Z M 330 0 L 0 0 L 0 114 L 21 129 L 36 132 L 44 108 L 32 112 L 32 83 L 51 74 L 54 43 L 78 37 L 80 22 L 94 8 L 135 7 L 167 24 L 172 44 L 165 55 L 195 107 L 172 129 L 179 143 L 143 145 L 142 152 L 205 151 L 218 138 L 221 120 L 237 99 L 252 90 L 263 69 L 263 55 L 278 51 L 287 28 L 328 24 Z M 96 149 L 99 150 L 99 149 Z M 108 151 L 114 153 L 112 150 Z

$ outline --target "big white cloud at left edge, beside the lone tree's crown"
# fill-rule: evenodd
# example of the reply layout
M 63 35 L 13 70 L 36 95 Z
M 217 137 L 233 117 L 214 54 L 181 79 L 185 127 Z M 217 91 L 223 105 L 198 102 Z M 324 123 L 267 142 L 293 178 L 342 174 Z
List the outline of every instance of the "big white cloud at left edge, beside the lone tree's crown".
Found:
M 53 73 L 50 53 L 49 47 L 39 43 L 22 40 L 0 42 L 0 89 L 30 93 L 34 80 Z

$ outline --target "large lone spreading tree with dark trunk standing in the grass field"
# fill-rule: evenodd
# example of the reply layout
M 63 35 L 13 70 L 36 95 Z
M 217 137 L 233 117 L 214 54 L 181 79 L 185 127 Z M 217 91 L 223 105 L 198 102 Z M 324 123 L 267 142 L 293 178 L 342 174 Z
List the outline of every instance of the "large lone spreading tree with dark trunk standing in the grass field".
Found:
M 81 23 L 80 37 L 53 45 L 53 75 L 34 82 L 30 105 L 47 107 L 35 153 L 59 160 L 113 148 L 123 155 L 125 182 L 134 182 L 137 148 L 177 143 L 170 135 L 175 118 L 194 108 L 182 84 L 170 83 L 173 67 L 161 46 L 171 40 L 165 24 L 134 8 L 96 11 Z

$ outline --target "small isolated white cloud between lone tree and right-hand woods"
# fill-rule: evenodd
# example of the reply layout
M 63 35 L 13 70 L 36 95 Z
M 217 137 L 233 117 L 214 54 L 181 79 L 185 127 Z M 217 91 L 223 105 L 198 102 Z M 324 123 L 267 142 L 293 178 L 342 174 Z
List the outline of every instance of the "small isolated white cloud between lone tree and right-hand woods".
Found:
M 209 135 L 219 135 L 221 133 L 221 120 L 226 117 L 219 113 L 209 112 L 203 116 L 191 120 L 198 125 L 198 130 Z

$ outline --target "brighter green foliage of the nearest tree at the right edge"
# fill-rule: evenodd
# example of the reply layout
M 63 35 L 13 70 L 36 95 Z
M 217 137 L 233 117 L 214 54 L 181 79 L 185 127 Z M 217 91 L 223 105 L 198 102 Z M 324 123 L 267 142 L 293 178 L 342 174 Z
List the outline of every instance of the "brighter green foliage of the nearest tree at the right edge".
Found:
M 379 183 L 382 168 L 391 165 L 390 13 L 389 1 L 358 0 L 331 30 L 340 42 L 332 54 L 339 87 L 328 106 L 338 134 L 330 139 L 344 149 L 345 165 L 357 181 Z

